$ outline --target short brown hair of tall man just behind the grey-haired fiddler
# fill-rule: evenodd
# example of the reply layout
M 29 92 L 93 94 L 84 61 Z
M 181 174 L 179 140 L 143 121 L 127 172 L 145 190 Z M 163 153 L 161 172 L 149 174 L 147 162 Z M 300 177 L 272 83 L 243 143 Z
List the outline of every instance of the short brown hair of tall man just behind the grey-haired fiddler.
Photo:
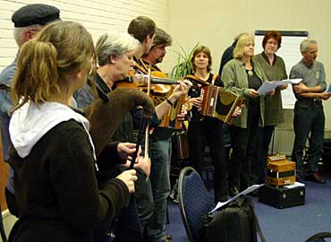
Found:
M 149 17 L 139 16 L 130 22 L 128 27 L 128 33 L 132 34 L 135 39 L 138 39 L 140 43 L 149 36 L 153 37 L 157 25 Z

